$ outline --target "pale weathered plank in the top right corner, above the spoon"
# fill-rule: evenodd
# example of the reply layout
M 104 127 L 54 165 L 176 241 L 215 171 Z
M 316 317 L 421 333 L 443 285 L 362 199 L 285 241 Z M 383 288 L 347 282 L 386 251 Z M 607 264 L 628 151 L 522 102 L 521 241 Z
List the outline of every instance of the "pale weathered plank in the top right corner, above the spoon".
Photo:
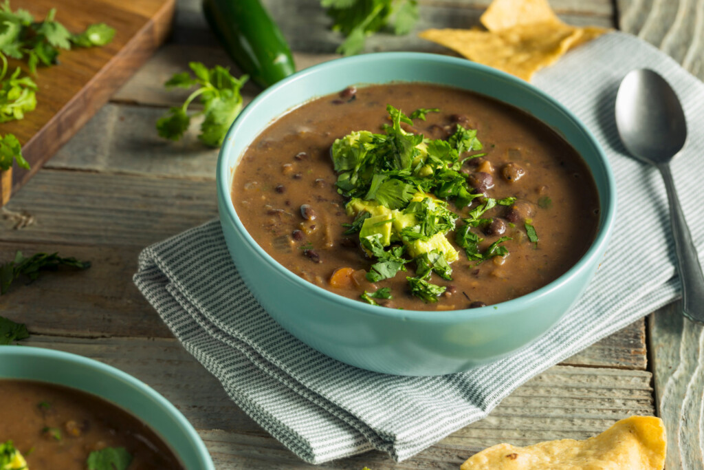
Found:
M 703 0 L 617 0 L 618 27 L 672 56 L 704 80 Z

